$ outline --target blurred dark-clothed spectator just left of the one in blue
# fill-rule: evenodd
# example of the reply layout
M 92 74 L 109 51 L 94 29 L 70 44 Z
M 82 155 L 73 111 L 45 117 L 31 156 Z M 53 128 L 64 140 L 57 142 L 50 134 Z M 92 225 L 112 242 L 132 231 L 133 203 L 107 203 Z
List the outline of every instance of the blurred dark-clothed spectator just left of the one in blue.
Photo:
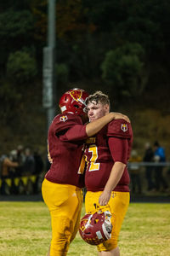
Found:
M 154 161 L 154 151 L 150 146 L 150 143 L 145 143 L 145 152 L 144 152 L 144 162 L 152 162 Z M 153 182 L 153 166 L 146 166 L 145 167 L 145 177 L 147 180 L 147 190 L 150 191 L 155 188 Z

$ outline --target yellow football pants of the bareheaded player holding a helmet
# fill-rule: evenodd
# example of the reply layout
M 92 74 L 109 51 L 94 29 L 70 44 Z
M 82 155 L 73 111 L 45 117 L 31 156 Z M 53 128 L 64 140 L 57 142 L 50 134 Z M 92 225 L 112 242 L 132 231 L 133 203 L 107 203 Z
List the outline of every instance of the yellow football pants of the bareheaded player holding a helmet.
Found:
M 127 212 L 127 207 L 129 205 L 130 194 L 129 192 L 112 192 L 111 199 L 105 207 L 99 206 L 99 192 L 88 191 L 85 197 L 85 207 L 86 212 L 96 212 L 94 204 L 96 204 L 99 209 L 103 212 L 110 211 L 112 214 L 111 224 L 113 226 L 111 232 L 111 239 L 104 241 L 99 244 L 98 250 L 101 251 L 111 251 L 117 247 L 118 236 L 121 230 L 122 222 Z

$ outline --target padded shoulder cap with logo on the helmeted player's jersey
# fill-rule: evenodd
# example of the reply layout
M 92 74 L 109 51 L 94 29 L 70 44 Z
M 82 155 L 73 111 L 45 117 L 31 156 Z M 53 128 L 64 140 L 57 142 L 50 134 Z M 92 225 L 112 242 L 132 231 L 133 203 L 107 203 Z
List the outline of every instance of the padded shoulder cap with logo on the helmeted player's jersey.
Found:
M 73 125 L 82 125 L 82 119 L 72 113 L 60 113 L 54 118 L 52 125 L 55 132 L 59 132 L 67 130 Z

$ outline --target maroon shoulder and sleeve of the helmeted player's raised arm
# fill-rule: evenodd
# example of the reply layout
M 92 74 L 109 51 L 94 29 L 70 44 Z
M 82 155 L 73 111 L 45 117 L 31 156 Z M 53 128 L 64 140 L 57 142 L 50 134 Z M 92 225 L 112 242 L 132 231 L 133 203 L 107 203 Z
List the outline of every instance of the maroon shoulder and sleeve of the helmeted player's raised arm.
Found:
M 86 139 L 86 125 L 82 119 L 71 113 L 59 114 L 54 122 L 54 131 L 61 141 L 79 141 Z

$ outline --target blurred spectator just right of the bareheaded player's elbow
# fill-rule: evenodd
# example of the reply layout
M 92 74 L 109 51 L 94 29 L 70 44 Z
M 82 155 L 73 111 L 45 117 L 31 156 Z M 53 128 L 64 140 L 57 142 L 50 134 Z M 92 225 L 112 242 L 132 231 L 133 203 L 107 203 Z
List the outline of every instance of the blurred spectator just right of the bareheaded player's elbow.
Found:
M 130 177 L 131 177 L 132 193 L 137 193 L 137 194 L 142 193 L 141 180 L 140 180 L 140 166 L 138 164 L 141 161 L 142 161 L 142 158 L 139 156 L 137 150 L 133 149 L 129 159 L 130 165 L 128 167 Z

